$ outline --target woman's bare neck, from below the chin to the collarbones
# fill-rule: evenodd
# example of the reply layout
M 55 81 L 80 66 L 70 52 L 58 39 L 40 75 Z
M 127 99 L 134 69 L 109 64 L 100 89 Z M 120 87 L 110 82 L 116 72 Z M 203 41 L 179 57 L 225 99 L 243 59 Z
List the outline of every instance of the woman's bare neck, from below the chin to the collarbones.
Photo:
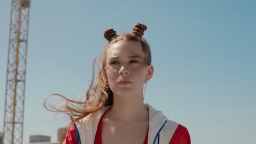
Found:
M 144 106 L 142 94 L 132 97 L 113 95 L 114 101 L 108 110 L 108 117 L 119 122 L 149 121 L 148 109 Z

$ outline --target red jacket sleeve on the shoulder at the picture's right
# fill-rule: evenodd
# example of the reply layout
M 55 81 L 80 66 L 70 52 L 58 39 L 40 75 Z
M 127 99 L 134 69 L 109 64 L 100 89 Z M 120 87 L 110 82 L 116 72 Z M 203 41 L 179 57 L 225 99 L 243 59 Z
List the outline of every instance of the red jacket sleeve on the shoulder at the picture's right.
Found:
M 174 144 L 174 143 L 178 143 L 178 144 L 191 143 L 188 129 L 181 124 L 177 125 L 177 128 L 174 131 L 174 134 L 169 142 L 169 144 Z

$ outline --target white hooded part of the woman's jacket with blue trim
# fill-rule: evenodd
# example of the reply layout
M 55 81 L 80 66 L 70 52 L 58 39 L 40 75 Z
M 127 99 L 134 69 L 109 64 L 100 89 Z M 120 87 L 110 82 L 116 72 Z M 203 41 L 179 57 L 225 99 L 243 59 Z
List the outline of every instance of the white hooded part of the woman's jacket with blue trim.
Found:
M 148 143 L 169 143 L 179 124 L 167 119 L 161 111 L 155 110 L 151 105 L 144 105 L 149 110 Z M 94 143 L 98 122 L 109 107 L 103 107 L 75 123 L 79 144 Z

